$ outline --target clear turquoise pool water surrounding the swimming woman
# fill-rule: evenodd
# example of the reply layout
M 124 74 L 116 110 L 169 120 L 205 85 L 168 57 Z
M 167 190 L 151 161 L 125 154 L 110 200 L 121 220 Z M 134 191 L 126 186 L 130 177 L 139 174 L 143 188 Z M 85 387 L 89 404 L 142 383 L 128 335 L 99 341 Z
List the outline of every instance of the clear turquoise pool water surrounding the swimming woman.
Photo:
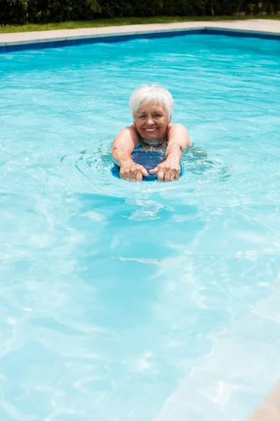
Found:
M 245 420 L 280 377 L 279 53 L 190 35 L 0 55 L 1 421 Z M 179 182 L 123 182 L 111 142 L 153 81 L 200 153 Z

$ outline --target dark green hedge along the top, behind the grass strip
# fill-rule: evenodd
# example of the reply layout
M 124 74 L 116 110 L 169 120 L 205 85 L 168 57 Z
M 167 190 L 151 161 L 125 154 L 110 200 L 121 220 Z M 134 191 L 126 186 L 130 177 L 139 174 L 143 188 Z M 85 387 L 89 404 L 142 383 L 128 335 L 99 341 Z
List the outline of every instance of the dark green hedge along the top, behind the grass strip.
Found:
M 272 13 L 280 0 L 0 0 L 0 23 L 47 23 L 155 15 Z

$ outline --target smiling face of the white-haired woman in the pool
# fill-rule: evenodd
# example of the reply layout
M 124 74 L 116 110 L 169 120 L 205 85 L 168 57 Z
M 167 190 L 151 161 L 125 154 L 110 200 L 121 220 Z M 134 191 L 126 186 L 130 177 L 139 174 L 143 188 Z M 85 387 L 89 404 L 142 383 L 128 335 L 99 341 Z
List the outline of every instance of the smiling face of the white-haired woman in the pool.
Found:
M 151 102 L 139 108 L 134 116 L 134 123 L 141 138 L 148 140 L 149 145 L 158 145 L 165 140 L 170 119 L 164 105 Z

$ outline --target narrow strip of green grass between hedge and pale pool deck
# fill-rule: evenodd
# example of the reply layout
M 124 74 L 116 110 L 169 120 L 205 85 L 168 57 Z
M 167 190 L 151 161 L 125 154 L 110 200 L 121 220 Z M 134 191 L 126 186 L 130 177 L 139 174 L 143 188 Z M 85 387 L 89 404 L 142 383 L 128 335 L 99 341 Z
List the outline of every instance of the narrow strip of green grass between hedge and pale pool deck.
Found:
M 122 25 L 137 25 L 139 23 L 172 23 L 172 22 L 203 22 L 205 20 L 244 20 L 244 19 L 274 19 L 280 20 L 280 15 L 251 15 L 251 16 L 154 16 L 152 18 L 113 18 L 84 21 L 54 22 L 28 25 L 1 25 L 0 33 L 48 31 L 50 29 L 77 29 Z

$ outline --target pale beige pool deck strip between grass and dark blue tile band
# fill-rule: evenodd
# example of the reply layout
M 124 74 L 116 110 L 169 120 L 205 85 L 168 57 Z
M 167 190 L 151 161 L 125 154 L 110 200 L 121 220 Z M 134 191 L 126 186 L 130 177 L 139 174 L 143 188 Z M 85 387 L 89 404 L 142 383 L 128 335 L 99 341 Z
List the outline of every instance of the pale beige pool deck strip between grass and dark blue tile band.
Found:
M 158 32 L 186 32 L 188 29 L 223 29 L 237 32 L 257 32 L 280 35 L 280 21 L 268 19 L 232 20 L 219 22 L 152 23 L 148 25 L 127 25 L 118 27 L 59 29 L 55 31 L 15 32 L 0 34 L 0 47 L 23 44 L 38 44 L 53 41 L 98 38 L 104 36 L 125 36 L 153 34 Z

